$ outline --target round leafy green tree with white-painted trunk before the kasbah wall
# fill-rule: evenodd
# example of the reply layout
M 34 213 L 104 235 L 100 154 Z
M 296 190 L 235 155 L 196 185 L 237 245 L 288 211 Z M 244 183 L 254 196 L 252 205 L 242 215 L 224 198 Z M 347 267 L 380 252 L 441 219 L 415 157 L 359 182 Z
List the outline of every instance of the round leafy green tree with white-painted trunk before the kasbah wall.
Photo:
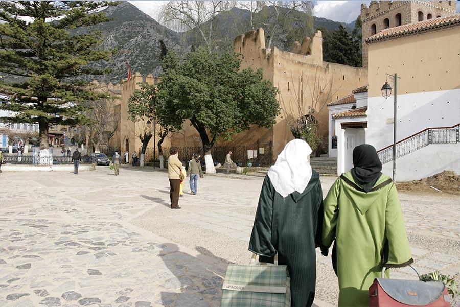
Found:
M 180 129 L 189 120 L 198 131 L 206 161 L 206 172 L 215 172 L 211 149 L 219 139 L 252 125 L 272 128 L 280 112 L 277 89 L 263 80 L 262 70 L 240 70 L 235 53 L 209 52 L 200 47 L 180 61 L 174 51 L 163 60 L 158 83 L 158 116 Z

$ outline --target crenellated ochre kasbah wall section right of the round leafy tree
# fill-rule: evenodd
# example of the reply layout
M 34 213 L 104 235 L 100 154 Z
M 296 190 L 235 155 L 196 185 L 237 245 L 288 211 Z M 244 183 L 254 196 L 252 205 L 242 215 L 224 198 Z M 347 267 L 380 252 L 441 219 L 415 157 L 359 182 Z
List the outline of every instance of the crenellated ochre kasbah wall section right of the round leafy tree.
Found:
M 264 30 L 250 31 L 235 38 L 234 51 L 243 55 L 241 69 L 262 68 L 264 78 L 278 88 L 278 100 L 282 112 L 277 117 L 273 130 L 256 129 L 240 133 L 236 139 L 270 138 L 273 140 L 273 157 L 293 139 L 286 123 L 286 114 L 296 117 L 308 114 L 319 121 L 320 133 L 327 137 L 328 110 L 326 104 L 347 95 L 351 90 L 367 84 L 367 70 L 359 67 L 328 63 L 323 61 L 323 38 L 318 31 L 312 38 L 294 43 L 292 52 L 277 47 L 266 49 Z M 303 84 L 303 114 L 298 110 Z M 318 103 L 315 103 L 318 101 Z

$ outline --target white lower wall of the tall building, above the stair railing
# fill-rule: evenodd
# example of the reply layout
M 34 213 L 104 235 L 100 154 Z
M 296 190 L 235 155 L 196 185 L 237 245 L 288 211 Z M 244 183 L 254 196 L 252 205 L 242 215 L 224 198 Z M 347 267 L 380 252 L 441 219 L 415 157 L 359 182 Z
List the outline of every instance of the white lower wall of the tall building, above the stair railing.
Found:
M 460 89 L 398 95 L 397 139 L 426 128 L 460 123 Z M 393 144 L 394 97 L 370 97 L 367 106 L 366 143 L 380 150 Z M 413 153 L 410 154 L 413 156 Z

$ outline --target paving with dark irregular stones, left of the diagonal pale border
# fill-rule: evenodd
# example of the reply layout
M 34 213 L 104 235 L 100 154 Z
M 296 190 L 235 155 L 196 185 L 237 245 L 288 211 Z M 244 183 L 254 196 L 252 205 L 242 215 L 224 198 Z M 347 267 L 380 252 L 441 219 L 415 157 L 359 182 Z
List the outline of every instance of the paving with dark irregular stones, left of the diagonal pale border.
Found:
M 128 223 L 130 172 L 0 175 L 1 306 L 219 305 L 223 264 Z

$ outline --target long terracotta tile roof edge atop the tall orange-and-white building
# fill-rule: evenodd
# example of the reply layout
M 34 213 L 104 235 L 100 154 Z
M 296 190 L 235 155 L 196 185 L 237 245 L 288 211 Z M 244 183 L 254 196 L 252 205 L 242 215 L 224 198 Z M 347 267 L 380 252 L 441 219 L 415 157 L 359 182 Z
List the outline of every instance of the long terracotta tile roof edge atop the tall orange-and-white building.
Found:
M 408 25 L 402 25 L 395 28 L 388 28 L 367 38 L 366 42 L 372 43 L 389 38 L 408 36 L 419 32 L 428 32 L 430 30 L 433 31 L 442 28 L 448 28 L 454 25 L 460 26 L 460 14 L 428 19 L 416 23 L 409 23 Z

